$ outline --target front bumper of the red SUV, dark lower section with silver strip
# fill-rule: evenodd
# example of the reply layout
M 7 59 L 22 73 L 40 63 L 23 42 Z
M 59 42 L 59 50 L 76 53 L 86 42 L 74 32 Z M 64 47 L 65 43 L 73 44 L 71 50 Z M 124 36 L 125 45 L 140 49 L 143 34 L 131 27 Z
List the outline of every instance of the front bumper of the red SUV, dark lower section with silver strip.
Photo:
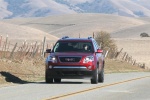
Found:
M 53 66 L 51 69 L 46 69 L 46 76 L 48 78 L 83 79 L 92 78 L 93 72 L 85 66 Z

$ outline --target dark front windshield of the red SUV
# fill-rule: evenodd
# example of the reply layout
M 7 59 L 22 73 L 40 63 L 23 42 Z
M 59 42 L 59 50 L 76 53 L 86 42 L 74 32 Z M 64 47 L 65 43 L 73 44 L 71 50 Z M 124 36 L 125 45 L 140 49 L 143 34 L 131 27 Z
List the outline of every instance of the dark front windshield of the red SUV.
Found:
M 57 42 L 53 52 L 93 52 L 91 42 Z

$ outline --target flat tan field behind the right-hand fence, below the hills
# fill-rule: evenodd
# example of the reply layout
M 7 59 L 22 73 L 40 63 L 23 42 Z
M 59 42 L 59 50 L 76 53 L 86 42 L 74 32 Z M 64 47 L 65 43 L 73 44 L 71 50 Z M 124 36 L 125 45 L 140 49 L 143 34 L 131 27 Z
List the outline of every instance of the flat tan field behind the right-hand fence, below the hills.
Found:
M 115 39 L 118 49 L 123 48 L 133 59 L 150 68 L 150 38 Z

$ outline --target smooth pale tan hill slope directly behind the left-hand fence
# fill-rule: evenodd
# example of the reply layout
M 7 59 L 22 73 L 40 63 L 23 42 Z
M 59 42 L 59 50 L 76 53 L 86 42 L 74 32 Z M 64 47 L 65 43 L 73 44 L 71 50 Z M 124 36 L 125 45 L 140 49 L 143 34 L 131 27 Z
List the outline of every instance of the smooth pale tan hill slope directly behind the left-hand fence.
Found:
M 42 41 L 45 36 L 48 40 L 52 41 L 58 39 L 57 37 L 52 36 L 46 32 L 26 26 L 14 25 L 4 22 L 0 22 L 0 26 L 0 35 L 3 36 L 3 41 L 4 38 L 6 38 L 8 35 L 9 41 L 11 41 L 11 43 L 22 43 L 25 40 L 27 42 Z

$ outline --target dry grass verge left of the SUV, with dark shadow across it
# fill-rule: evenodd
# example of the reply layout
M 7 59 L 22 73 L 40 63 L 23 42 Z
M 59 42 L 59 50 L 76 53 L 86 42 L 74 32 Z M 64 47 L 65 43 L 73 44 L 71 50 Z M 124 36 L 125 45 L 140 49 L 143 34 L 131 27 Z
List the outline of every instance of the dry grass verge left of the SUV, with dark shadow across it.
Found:
M 27 83 L 33 82 L 44 77 L 43 60 L 0 60 L 0 81 L 1 83 Z

